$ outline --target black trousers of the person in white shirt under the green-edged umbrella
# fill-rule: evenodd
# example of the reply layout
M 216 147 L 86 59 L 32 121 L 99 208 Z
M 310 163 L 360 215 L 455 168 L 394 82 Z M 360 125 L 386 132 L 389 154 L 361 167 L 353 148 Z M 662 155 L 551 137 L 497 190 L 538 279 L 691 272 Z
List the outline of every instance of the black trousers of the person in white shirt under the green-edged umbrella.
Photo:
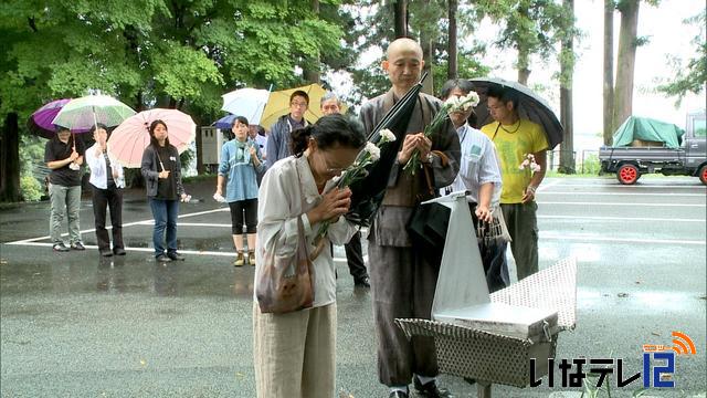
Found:
M 110 210 L 113 226 L 113 250 L 125 249 L 123 244 L 123 189 L 115 185 L 108 189 L 93 188 L 93 217 L 96 228 L 98 250 L 110 250 L 110 239 L 106 230 L 106 208 Z

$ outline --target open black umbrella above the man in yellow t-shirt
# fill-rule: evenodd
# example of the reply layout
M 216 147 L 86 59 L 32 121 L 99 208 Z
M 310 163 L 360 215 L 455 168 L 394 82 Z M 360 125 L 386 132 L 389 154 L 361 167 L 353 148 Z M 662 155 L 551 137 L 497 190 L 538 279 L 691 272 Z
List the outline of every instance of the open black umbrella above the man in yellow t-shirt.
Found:
M 527 118 L 542 126 L 545 134 L 548 137 L 548 144 L 550 145 L 548 150 L 551 150 L 562 142 L 564 128 L 560 124 L 560 121 L 558 121 L 555 112 L 552 112 L 547 101 L 530 88 L 518 82 L 509 82 L 496 77 L 475 77 L 469 78 L 469 81 L 474 83 L 476 93 L 481 98 L 478 106 L 474 109 L 474 112 L 476 112 L 479 126 L 494 122 L 488 113 L 486 93 L 488 92 L 488 87 L 499 85 L 518 92 L 518 115 L 521 118 Z

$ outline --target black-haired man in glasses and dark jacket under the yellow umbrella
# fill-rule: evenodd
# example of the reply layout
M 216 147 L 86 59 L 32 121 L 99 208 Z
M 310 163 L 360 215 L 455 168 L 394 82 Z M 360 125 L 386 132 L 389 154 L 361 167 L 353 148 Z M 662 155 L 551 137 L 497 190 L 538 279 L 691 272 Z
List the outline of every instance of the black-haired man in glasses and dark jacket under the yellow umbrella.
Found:
M 275 161 L 288 157 L 289 142 L 292 132 L 297 128 L 303 128 L 309 123 L 305 121 L 305 112 L 309 107 L 309 95 L 297 90 L 289 96 L 289 113 L 281 116 L 277 122 L 270 128 L 270 136 L 267 136 L 267 167 L 271 167 Z

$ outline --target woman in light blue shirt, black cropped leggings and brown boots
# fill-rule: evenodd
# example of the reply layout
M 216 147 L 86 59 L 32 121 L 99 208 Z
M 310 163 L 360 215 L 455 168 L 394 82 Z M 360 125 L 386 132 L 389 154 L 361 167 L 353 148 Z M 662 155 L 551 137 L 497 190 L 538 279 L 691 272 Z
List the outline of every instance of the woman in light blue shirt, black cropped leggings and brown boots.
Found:
M 257 226 L 257 172 L 265 168 L 260 148 L 247 136 L 249 124 L 243 116 L 233 119 L 235 138 L 221 149 L 217 193 L 223 196 L 223 182 L 229 178 L 225 201 L 231 208 L 231 233 L 238 256 L 235 266 L 255 265 L 255 228 Z M 245 222 L 243 222 L 245 219 Z M 243 224 L 247 234 L 247 254 L 243 253 Z

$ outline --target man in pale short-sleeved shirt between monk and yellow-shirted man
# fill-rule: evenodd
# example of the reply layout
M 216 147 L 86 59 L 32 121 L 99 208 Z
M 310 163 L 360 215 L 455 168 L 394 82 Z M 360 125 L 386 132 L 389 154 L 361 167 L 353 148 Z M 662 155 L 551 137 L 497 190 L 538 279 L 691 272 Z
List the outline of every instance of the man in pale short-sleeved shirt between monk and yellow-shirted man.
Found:
M 498 217 L 502 213 L 498 205 L 503 185 L 494 144 L 484 133 L 468 124 L 468 118 L 474 113 L 473 106 L 478 104 L 478 94 L 468 80 L 454 78 L 444 83 L 440 97 L 445 103 L 458 103 L 468 96 L 474 97 L 468 106 L 450 112 L 450 119 L 456 127 L 462 145 L 462 161 L 460 174 L 449 188 L 452 191 L 467 190 L 466 199 L 474 224 L 484 222 L 490 226 L 493 222 L 503 222 L 503 217 L 500 220 Z M 509 284 L 506 263 L 507 242 L 502 238 L 493 240 L 478 238 L 488 291 L 495 292 L 506 287 Z

